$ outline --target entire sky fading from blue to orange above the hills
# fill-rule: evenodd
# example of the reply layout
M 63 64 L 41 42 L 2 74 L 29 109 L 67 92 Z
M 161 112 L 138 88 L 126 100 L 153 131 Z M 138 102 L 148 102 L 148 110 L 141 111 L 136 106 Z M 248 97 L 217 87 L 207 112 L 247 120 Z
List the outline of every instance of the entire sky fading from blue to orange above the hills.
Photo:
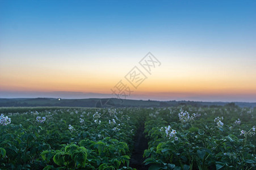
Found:
M 0 98 L 256 102 L 255 30 L 256 1 L 0 0 Z

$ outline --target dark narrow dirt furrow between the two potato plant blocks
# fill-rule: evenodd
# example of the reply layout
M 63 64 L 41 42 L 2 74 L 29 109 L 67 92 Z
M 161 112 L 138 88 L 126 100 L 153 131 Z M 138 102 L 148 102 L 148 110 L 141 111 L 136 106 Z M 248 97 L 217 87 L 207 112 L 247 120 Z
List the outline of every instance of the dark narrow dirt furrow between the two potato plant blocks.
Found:
M 148 149 L 148 140 L 146 140 L 143 131 L 144 125 L 137 131 L 137 135 L 135 137 L 135 146 L 130 159 L 130 167 L 138 170 L 149 168 L 147 165 L 142 163 L 145 160 L 145 158 L 143 158 L 144 150 Z

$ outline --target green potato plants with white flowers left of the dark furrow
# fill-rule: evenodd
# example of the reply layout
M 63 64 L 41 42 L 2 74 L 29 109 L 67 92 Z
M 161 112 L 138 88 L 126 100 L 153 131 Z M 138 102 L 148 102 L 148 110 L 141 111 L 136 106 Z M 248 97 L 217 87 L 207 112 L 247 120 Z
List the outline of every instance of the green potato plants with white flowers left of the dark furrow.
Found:
M 132 169 L 129 156 L 142 114 L 79 108 L 2 114 L 0 167 Z

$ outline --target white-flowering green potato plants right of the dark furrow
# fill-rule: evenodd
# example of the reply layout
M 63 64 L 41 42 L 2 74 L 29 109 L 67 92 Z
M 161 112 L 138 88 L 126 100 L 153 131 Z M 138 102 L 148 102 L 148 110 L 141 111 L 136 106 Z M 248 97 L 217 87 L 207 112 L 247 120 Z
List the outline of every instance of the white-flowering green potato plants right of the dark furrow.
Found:
M 246 108 L 154 109 L 145 122 L 149 169 L 255 169 L 255 116 Z

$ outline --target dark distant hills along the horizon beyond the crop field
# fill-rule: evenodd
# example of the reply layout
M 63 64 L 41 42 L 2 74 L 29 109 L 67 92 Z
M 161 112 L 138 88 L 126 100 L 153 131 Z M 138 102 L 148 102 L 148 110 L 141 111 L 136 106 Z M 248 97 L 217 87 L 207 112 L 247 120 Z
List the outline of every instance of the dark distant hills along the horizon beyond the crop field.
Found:
M 256 103 L 245 102 L 203 102 L 203 101 L 156 101 L 128 99 L 54 99 L 24 98 L 0 99 L 0 107 L 171 107 L 177 105 L 194 105 L 198 107 L 223 106 L 233 104 L 239 107 L 256 107 Z

